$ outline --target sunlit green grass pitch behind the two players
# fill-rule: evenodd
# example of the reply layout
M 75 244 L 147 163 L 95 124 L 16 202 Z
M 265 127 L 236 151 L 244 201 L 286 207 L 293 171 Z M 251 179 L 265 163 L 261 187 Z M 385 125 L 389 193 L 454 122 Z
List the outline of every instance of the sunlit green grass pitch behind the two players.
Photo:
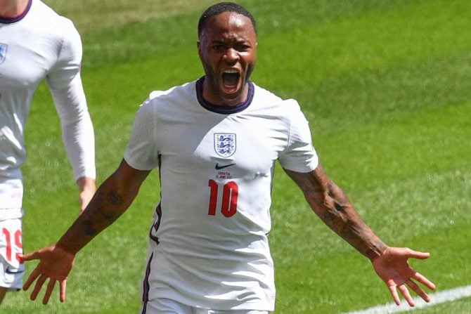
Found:
M 116 168 L 138 105 L 197 79 L 200 13 L 214 1 L 49 0 L 82 34 L 98 183 Z M 252 79 L 296 98 L 333 180 L 387 244 L 430 251 L 414 268 L 438 291 L 471 284 L 471 2 L 239 1 L 257 19 Z M 25 251 L 58 240 L 78 214 L 58 117 L 39 87 L 25 130 Z M 9 294 L 1 313 L 137 313 L 157 171 L 86 248 L 67 301 Z M 390 302 L 370 263 L 311 213 L 281 169 L 273 188 L 275 313 L 343 313 Z M 35 263 L 27 264 L 27 273 Z M 417 310 L 471 313 L 471 299 Z

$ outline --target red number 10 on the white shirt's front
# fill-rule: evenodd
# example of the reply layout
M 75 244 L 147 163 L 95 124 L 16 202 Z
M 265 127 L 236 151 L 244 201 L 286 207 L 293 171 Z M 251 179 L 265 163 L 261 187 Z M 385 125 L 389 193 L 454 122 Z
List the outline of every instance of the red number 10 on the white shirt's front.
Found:
M 209 180 L 209 210 L 208 215 L 216 215 L 216 204 L 217 204 L 217 192 L 218 185 L 216 181 Z M 226 217 L 231 217 L 236 214 L 237 211 L 237 196 L 238 196 L 239 187 L 234 181 L 230 181 L 224 185 L 222 191 L 222 204 L 221 204 L 221 213 Z

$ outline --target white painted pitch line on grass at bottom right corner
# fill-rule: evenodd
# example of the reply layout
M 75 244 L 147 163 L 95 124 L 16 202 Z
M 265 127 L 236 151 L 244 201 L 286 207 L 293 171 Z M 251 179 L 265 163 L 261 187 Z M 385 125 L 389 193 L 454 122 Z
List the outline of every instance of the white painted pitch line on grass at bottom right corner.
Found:
M 364 310 L 358 310 L 355 312 L 349 312 L 345 314 L 386 314 L 386 313 L 399 313 L 406 312 L 408 310 L 415 310 L 418 308 L 425 308 L 427 306 L 434 306 L 439 303 L 445 303 L 455 301 L 458 299 L 464 299 L 471 296 L 471 285 L 465 287 L 459 287 L 456 289 L 444 290 L 429 294 L 432 301 L 429 303 L 423 301 L 420 298 L 414 298 L 415 306 L 411 308 L 408 303 L 404 300 L 401 301 L 400 306 L 396 306 L 396 303 L 388 303 L 384 306 L 375 306 L 373 308 L 366 308 Z

